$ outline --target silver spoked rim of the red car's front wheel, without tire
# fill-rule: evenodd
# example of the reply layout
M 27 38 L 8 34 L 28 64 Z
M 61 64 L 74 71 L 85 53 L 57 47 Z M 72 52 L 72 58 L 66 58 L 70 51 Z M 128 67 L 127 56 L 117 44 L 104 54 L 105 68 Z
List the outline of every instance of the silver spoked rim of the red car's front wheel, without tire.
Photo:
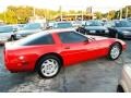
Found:
M 110 56 L 112 59 L 117 59 L 119 54 L 120 54 L 120 48 L 119 46 L 116 45 L 111 48 Z

